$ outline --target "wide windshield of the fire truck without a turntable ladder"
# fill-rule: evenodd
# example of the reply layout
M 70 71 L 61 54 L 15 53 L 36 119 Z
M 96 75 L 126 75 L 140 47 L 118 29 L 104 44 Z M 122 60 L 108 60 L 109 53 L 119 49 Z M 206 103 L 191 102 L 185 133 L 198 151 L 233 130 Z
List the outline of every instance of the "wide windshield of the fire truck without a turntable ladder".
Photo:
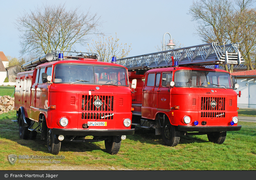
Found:
M 113 84 L 128 86 L 126 69 L 113 66 L 58 64 L 54 69 L 54 83 Z

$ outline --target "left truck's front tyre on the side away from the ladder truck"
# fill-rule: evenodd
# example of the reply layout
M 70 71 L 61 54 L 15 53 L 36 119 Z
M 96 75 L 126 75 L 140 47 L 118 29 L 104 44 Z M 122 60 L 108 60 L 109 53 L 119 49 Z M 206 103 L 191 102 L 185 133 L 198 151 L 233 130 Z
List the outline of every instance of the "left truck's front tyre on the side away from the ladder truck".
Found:
M 47 147 L 51 154 L 57 155 L 61 149 L 61 141 L 58 139 L 58 135 L 52 133 L 52 129 L 47 130 Z

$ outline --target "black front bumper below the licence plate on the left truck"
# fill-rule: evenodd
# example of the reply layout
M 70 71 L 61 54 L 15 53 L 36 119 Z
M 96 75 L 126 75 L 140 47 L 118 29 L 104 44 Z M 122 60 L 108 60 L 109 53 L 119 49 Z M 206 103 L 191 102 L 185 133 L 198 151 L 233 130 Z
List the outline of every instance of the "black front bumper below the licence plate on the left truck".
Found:
M 56 135 L 73 135 L 73 136 L 117 136 L 117 135 L 134 135 L 135 129 L 124 130 L 80 130 L 80 129 L 58 129 L 53 128 L 52 132 Z

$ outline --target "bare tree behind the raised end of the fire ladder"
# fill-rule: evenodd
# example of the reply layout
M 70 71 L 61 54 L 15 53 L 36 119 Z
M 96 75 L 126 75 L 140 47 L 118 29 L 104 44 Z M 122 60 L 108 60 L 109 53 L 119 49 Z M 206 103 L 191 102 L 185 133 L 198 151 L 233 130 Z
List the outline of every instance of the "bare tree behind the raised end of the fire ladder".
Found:
M 207 43 L 241 43 L 241 54 L 247 69 L 253 69 L 251 54 L 256 46 L 255 9 L 250 9 L 253 0 L 199 0 L 189 9 L 197 21 L 197 33 Z M 248 29 L 248 26 L 250 28 Z M 225 66 L 228 71 L 228 66 Z M 230 66 L 232 72 L 233 66 Z

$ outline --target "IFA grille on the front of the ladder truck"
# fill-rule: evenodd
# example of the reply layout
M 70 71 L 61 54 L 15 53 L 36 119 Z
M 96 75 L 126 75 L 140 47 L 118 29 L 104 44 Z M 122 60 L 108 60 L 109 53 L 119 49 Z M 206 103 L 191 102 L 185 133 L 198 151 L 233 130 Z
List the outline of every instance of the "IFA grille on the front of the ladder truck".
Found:
M 201 118 L 225 118 L 224 97 L 201 97 Z

